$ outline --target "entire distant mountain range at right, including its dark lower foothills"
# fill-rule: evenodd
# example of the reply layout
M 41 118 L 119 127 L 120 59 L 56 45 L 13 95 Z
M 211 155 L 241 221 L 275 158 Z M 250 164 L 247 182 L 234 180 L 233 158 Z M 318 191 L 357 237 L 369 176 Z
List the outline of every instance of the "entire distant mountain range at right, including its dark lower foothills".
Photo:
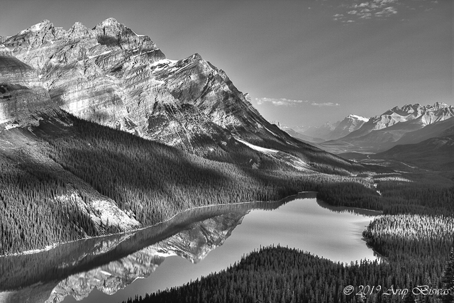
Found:
M 349 115 L 318 127 L 289 128 L 272 121 L 302 141 L 344 158 L 378 158 L 454 171 L 454 106 L 407 104 L 367 119 Z

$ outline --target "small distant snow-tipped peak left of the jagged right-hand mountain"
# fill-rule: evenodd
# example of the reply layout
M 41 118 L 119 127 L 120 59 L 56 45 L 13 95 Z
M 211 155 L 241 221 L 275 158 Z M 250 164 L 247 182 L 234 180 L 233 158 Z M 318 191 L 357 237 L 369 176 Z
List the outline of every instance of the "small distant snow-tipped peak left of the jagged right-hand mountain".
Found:
M 319 138 L 318 141 L 321 142 L 322 140 L 328 141 L 347 136 L 349 133 L 358 130 L 358 128 L 360 128 L 368 120 L 368 118 L 350 114 L 342 121 L 337 121 L 335 123 L 326 122 L 322 126 L 310 126 L 308 128 L 295 129 L 304 136 L 309 136 L 309 138 Z

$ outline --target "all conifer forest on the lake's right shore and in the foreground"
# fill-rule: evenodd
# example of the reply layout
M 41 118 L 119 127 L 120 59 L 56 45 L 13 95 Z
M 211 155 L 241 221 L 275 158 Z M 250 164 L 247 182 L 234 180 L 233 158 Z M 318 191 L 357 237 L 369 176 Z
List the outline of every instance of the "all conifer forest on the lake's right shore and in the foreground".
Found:
M 454 187 L 452 181 L 431 174 L 372 175 L 378 195 L 341 183 L 326 184 L 328 190 L 317 194 L 333 206 L 383 211 L 362 233 L 380 263 L 343 265 L 268 247 L 221 272 L 125 303 L 454 302 Z M 343 292 L 348 285 L 353 294 Z M 389 294 L 391 287 L 408 292 Z

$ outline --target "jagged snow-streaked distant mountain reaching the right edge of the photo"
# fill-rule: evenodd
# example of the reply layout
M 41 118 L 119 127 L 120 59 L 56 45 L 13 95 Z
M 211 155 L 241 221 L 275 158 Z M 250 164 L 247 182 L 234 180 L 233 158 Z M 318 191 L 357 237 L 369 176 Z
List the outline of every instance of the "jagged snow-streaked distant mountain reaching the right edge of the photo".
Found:
M 407 133 L 418 131 L 433 123 L 445 121 L 454 116 L 454 106 L 438 103 L 421 106 L 408 104 L 385 111 L 379 116 L 374 116 L 364 123 L 358 130 L 349 133 L 343 138 L 321 144 L 331 152 L 345 151 L 370 151 L 387 150 L 397 145 Z M 414 138 L 418 135 L 416 134 Z M 409 143 L 411 135 L 406 136 Z M 414 142 L 412 142 L 414 143 Z M 337 150 L 336 150 L 337 149 Z

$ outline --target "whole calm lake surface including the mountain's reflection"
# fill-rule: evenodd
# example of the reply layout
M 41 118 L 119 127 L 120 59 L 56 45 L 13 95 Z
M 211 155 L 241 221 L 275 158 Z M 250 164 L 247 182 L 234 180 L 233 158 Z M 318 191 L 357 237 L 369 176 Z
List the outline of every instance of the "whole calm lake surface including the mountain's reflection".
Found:
M 223 270 L 273 244 L 342 263 L 375 260 L 362 231 L 380 213 L 315 197 L 193 209 L 134 233 L 0 258 L 7 272 L 0 302 L 121 302 Z

